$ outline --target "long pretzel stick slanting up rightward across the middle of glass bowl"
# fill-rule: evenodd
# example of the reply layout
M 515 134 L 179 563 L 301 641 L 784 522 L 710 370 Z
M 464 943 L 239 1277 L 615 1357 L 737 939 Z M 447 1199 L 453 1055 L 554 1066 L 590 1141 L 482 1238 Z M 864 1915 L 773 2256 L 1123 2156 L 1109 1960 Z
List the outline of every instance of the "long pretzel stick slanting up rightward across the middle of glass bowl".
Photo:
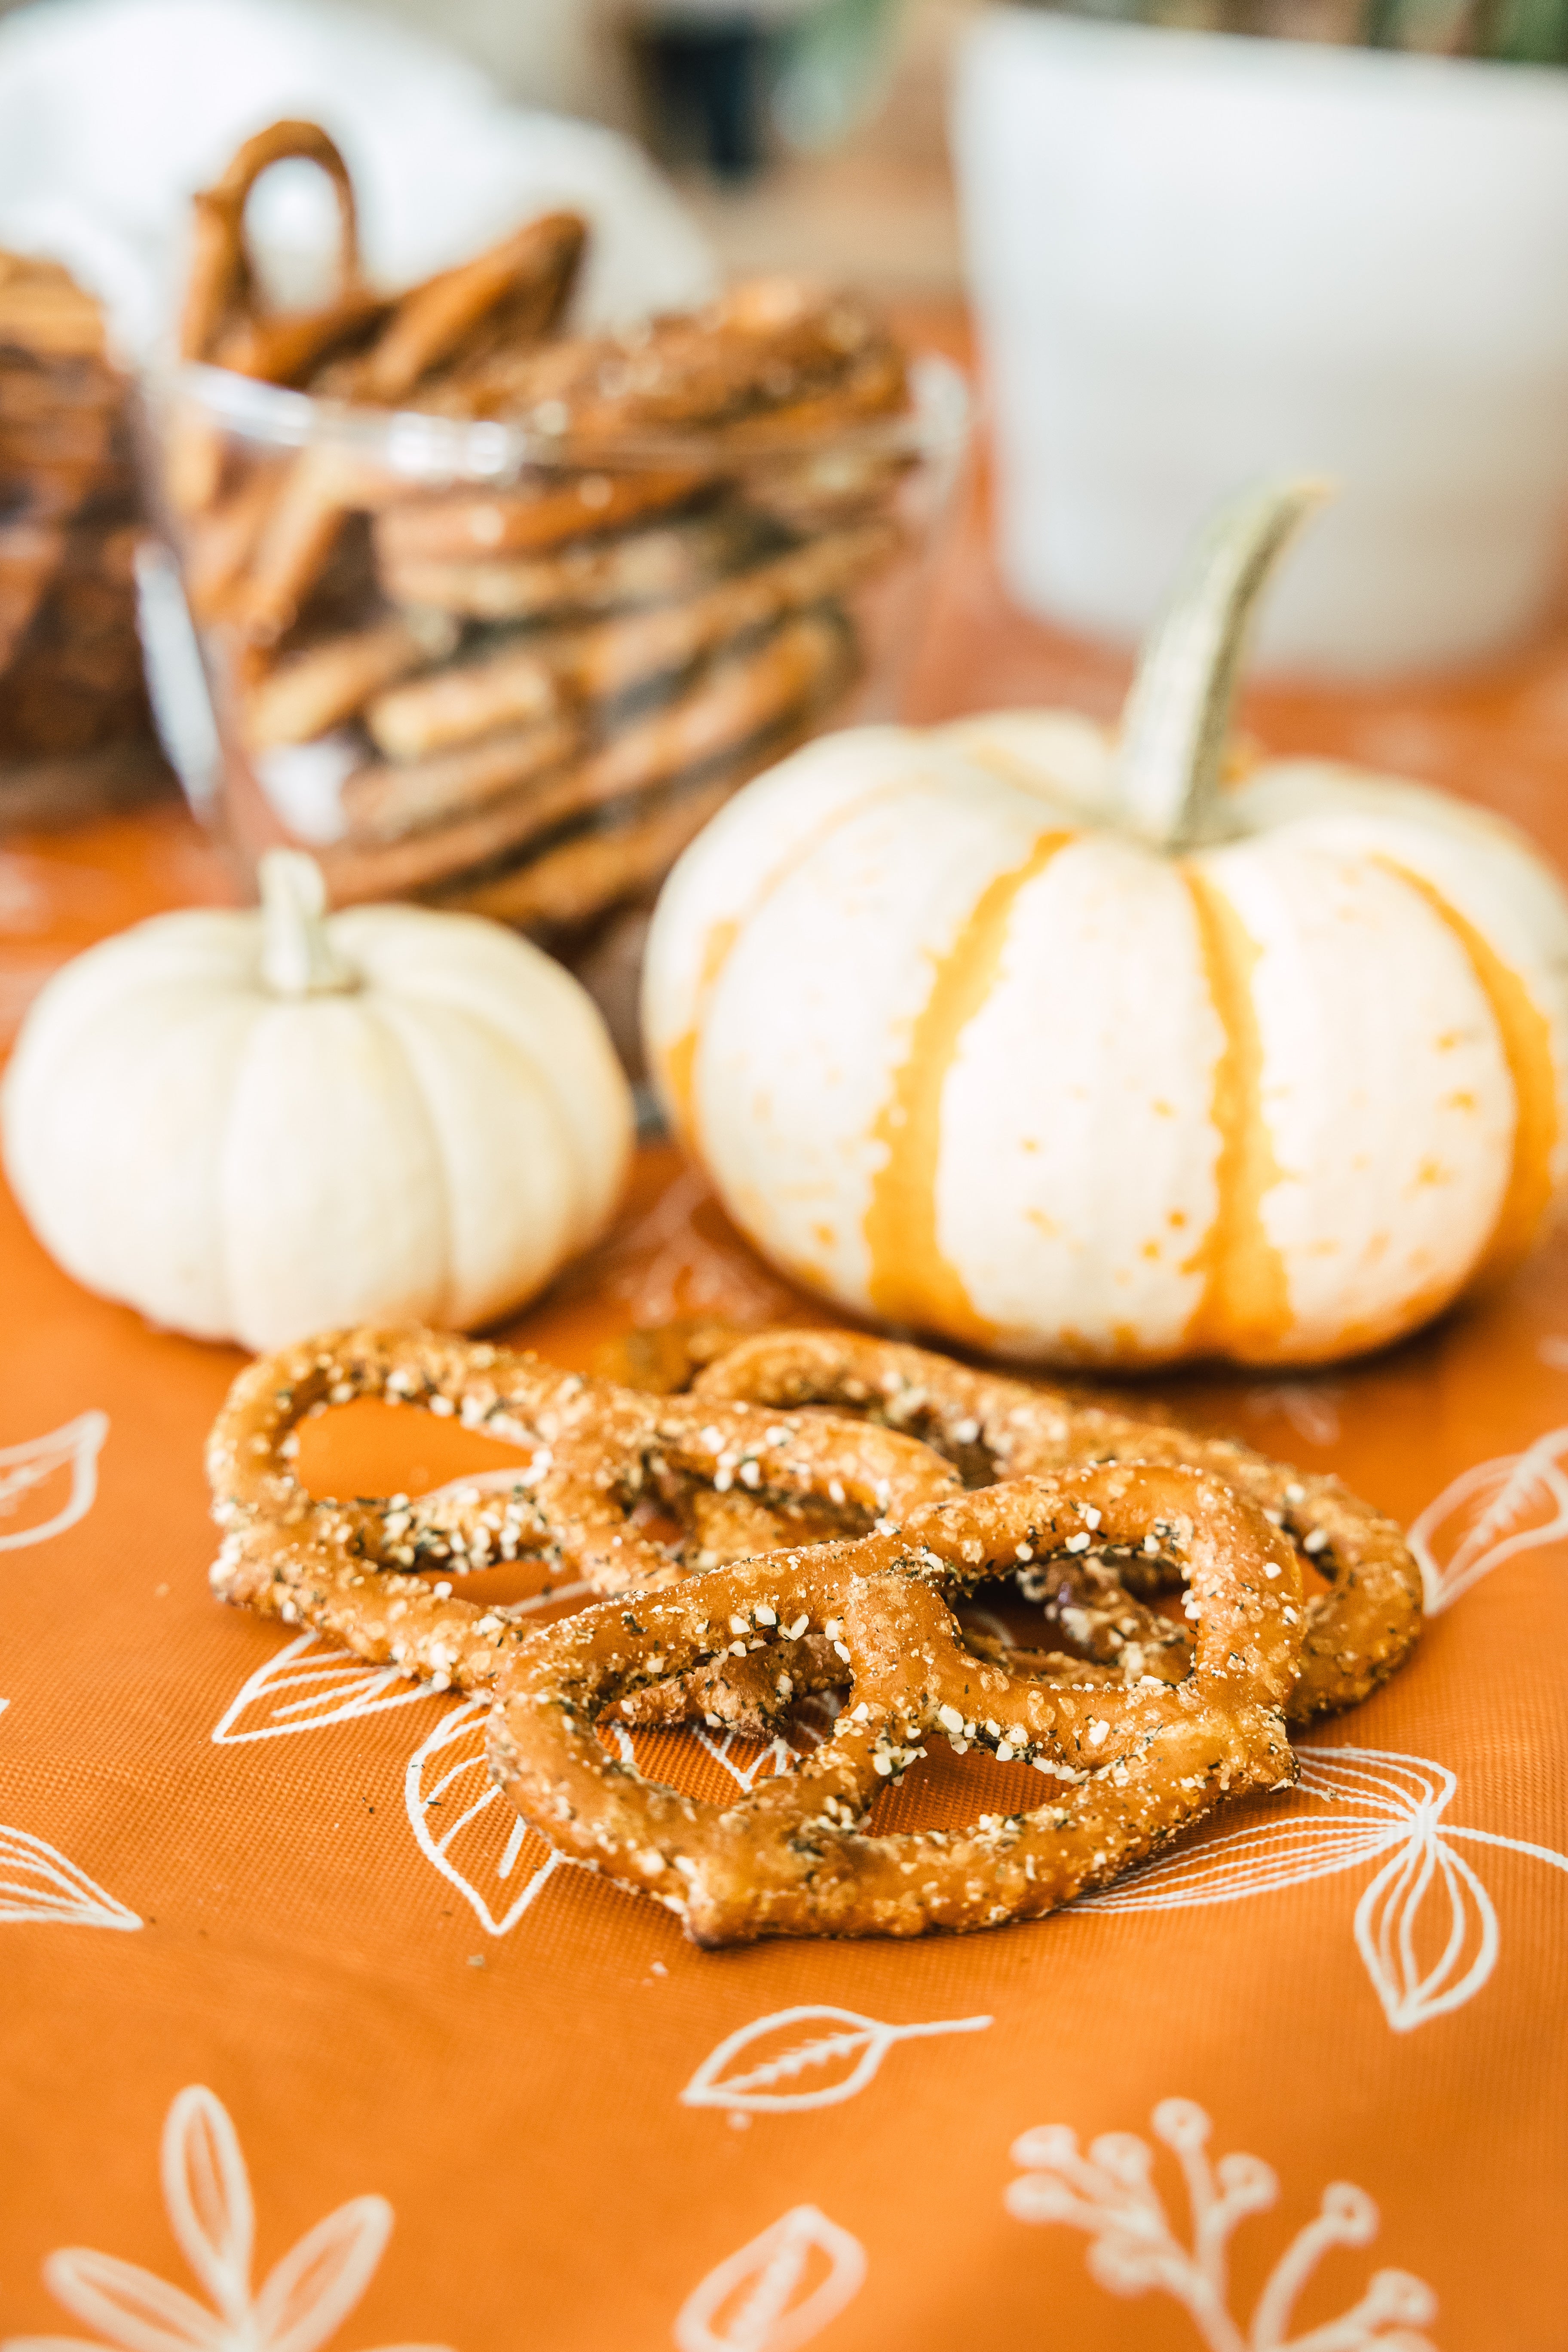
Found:
M 839 595 L 889 562 L 898 543 L 898 524 L 870 522 L 790 548 L 752 572 L 733 572 L 684 604 L 529 635 L 503 654 L 378 696 L 367 710 L 367 727 L 388 757 L 407 760 L 536 717 L 559 689 L 583 701 L 609 701 L 785 612 Z

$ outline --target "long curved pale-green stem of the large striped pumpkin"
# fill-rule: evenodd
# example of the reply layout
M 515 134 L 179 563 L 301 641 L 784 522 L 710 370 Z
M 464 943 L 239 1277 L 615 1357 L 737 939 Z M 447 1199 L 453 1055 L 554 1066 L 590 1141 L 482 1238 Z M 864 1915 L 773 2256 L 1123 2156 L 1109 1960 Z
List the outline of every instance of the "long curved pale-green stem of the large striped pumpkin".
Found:
M 1258 595 L 1295 527 L 1333 489 L 1302 475 L 1253 482 L 1187 546 L 1121 710 L 1117 800 L 1128 833 L 1161 849 L 1213 833 Z

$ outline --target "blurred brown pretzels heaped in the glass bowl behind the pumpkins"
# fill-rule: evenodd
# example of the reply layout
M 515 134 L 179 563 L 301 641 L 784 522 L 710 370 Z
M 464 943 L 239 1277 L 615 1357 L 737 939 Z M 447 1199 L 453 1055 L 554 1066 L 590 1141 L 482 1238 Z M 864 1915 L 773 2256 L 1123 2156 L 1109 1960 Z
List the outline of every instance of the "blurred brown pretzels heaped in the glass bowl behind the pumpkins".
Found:
M 336 191 L 336 292 L 268 310 L 244 207 L 292 158 Z M 195 200 L 183 358 L 322 407 L 277 447 L 176 405 L 167 501 L 230 743 L 273 783 L 331 746 L 339 906 L 423 896 L 569 941 L 646 894 L 863 668 L 849 597 L 905 541 L 889 329 L 773 278 L 571 334 L 585 242 L 552 212 L 376 294 L 348 169 L 308 122 L 249 139 Z M 454 459 L 442 482 L 430 454 L 407 470 L 334 430 L 367 407 L 498 423 L 529 459 L 496 482 Z

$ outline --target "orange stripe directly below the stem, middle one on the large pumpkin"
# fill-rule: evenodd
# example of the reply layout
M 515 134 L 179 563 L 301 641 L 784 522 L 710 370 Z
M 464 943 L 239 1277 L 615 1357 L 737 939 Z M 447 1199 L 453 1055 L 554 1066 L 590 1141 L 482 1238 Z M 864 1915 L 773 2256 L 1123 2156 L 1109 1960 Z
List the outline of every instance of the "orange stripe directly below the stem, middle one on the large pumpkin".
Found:
M 1199 931 L 1208 995 L 1225 1037 L 1213 1070 L 1211 1120 L 1220 1136 L 1215 1214 L 1185 1272 L 1204 1275 L 1185 1345 L 1201 1355 L 1269 1362 L 1279 1355 L 1291 1315 L 1286 1261 L 1262 1223 L 1262 1195 L 1284 1169 L 1262 1117 L 1262 1030 L 1253 1004 L 1258 941 L 1225 891 L 1194 866 L 1178 866 Z

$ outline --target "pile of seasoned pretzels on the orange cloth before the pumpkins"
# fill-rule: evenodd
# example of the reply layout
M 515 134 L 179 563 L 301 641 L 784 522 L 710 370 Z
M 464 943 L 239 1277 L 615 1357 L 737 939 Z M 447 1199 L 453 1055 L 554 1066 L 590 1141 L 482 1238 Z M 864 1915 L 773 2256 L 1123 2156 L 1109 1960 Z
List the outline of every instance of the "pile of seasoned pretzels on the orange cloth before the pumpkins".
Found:
M 1286 1788 L 1291 1729 L 1356 1705 L 1420 1635 L 1401 1531 L 1232 1439 L 846 1331 L 663 1336 L 625 1364 L 651 1385 L 421 1329 L 252 1364 L 209 1444 L 212 1576 L 489 1693 L 517 1811 L 698 1945 L 1058 1910 L 1222 1799 Z M 301 1423 L 357 1397 L 529 1458 L 421 1498 L 310 1496 Z M 604 1597 L 529 1625 L 484 1599 L 517 1559 Z M 1027 1604 L 1039 1646 L 969 1625 L 980 1588 Z M 788 1736 L 823 1700 L 832 1733 L 733 1804 L 607 1745 L 684 1719 Z M 1039 1802 L 879 1830 L 938 1743 L 1032 1766 Z

